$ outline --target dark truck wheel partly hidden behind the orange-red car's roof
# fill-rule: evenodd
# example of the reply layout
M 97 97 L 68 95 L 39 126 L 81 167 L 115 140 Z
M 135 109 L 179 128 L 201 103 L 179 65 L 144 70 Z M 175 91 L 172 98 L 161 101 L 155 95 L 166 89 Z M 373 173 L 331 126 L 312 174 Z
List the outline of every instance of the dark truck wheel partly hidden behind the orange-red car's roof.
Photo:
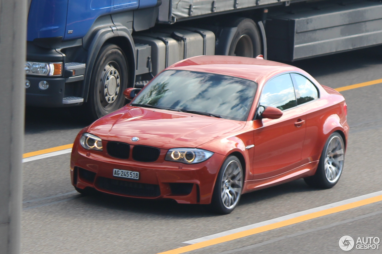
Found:
M 252 19 L 238 18 L 231 26 L 238 29 L 231 41 L 228 55 L 253 58 L 261 54 L 260 33 Z

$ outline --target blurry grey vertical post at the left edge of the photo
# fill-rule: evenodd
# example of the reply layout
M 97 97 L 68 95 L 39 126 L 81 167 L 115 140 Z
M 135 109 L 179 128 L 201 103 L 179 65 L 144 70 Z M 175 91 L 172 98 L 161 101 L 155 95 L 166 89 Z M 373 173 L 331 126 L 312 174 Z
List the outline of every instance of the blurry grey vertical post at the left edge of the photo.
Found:
M 27 0 L 0 0 L 0 254 L 20 251 Z

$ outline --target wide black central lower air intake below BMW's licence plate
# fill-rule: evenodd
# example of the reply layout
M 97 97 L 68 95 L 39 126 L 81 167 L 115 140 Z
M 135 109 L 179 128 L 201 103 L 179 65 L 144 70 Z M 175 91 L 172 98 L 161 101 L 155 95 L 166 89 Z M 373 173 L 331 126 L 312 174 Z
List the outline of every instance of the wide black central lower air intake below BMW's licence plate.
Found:
M 106 177 L 97 178 L 97 186 L 126 196 L 140 196 L 155 198 L 160 196 L 159 185 L 149 183 L 127 182 Z

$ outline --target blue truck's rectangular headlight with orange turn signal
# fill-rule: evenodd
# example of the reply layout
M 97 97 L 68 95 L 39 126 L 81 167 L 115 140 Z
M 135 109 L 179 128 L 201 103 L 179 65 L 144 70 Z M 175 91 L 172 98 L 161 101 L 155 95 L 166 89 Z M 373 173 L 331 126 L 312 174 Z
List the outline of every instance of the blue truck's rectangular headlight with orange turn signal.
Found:
M 60 63 L 37 63 L 25 62 L 25 74 L 36 76 L 61 76 L 62 62 Z

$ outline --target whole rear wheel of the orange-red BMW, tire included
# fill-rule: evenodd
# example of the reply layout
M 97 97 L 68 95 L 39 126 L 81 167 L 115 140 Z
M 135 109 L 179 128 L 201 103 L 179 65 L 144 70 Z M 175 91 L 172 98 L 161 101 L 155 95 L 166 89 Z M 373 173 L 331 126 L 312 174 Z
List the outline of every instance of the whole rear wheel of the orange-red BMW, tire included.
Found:
M 305 182 L 316 188 L 329 189 L 340 180 L 345 160 L 345 145 L 341 135 L 332 133 L 325 143 L 316 174 L 304 178 Z

